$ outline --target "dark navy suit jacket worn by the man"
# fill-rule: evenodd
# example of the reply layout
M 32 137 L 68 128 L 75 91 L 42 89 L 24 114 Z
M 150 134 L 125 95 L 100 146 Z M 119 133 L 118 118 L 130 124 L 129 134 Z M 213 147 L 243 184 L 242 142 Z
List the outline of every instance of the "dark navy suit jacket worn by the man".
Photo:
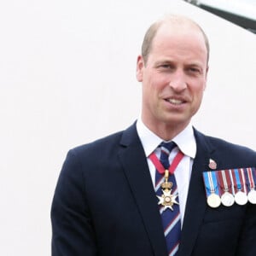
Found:
M 202 172 L 256 166 L 253 150 L 195 131 L 179 256 L 255 256 L 256 205 L 207 206 Z M 53 256 L 166 256 L 166 241 L 136 126 L 72 149 L 51 209 Z

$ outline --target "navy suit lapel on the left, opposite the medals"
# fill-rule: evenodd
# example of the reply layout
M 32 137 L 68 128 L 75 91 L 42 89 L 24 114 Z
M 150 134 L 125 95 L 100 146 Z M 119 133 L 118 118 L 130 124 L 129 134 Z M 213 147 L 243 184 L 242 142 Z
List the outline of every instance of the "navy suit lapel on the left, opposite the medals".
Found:
M 119 159 L 123 165 L 125 176 L 130 184 L 138 210 L 142 216 L 154 255 L 167 255 L 166 241 L 154 187 L 143 146 L 137 136 L 135 125 L 132 125 L 124 132 L 120 144 Z

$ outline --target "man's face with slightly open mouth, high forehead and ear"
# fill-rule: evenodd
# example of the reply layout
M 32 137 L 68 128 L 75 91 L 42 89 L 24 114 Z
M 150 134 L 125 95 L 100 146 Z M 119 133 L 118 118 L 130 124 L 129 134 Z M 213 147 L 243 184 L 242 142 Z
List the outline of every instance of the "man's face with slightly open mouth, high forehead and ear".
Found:
M 207 48 L 195 26 L 163 24 L 148 61 L 137 59 L 137 80 L 143 83 L 143 122 L 182 130 L 201 105 L 207 81 Z

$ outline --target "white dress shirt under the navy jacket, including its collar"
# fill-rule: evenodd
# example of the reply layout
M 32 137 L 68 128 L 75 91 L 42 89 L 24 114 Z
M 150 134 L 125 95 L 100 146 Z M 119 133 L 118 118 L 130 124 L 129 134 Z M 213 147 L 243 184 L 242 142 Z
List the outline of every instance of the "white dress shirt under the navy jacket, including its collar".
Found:
M 160 143 L 163 142 L 163 139 L 155 135 L 154 132 L 150 131 L 148 127 L 143 124 L 142 119 L 137 120 L 137 133 L 141 143 L 143 144 L 144 152 L 148 160 L 148 168 L 152 178 L 152 183 L 154 184 L 155 166 L 152 161 L 149 160 L 149 155 L 154 152 L 157 157 L 160 158 L 160 148 L 158 147 Z M 172 142 L 176 143 L 177 147 L 172 149 L 169 156 L 169 162 L 172 162 L 178 150 L 181 150 L 184 154 L 183 159 L 178 164 L 174 172 L 177 182 L 181 223 L 183 224 L 185 206 L 189 191 L 189 180 L 196 153 L 196 143 L 192 125 L 189 124 L 183 131 L 172 139 Z

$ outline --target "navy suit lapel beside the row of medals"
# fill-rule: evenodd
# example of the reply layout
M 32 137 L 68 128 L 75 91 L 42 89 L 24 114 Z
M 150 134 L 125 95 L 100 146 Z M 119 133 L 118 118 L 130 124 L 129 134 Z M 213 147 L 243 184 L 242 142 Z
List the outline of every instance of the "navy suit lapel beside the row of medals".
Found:
M 213 148 L 199 131 L 195 131 L 196 155 L 189 183 L 189 194 L 183 220 L 181 245 L 178 255 L 191 255 L 207 207 L 202 172 L 209 169 Z M 214 159 L 214 158 L 213 158 Z

